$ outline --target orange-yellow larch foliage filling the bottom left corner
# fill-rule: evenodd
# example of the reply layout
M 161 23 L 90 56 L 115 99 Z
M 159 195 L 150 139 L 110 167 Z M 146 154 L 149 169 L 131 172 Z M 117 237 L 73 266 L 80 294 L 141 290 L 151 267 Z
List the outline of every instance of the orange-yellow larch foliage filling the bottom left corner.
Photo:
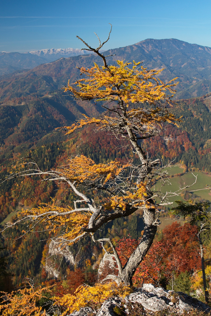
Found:
M 50 292 L 49 287 L 20 289 L 16 292 L 2 292 L 0 313 L 4 316 L 45 316 L 46 312 L 37 307 L 36 303 L 44 296 L 43 292 Z

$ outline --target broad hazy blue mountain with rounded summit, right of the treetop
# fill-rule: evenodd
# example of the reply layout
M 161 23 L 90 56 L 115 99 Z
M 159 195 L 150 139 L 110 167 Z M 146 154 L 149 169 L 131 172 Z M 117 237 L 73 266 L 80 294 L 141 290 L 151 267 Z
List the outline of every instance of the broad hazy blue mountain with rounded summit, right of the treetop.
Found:
M 116 59 L 143 60 L 146 67 L 162 69 L 163 80 L 178 77 L 177 98 L 191 98 L 211 92 L 211 48 L 177 39 L 147 39 L 137 44 L 112 49 Z

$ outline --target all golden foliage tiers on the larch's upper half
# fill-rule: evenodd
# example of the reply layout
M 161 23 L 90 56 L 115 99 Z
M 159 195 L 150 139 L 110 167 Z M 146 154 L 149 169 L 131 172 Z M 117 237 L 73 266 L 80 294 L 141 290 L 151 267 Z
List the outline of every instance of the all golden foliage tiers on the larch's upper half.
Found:
M 147 70 L 142 66 L 139 67 L 140 63 L 135 63 L 134 61 L 130 69 L 127 67 L 130 64 L 117 60 L 117 66 L 110 65 L 105 68 L 95 64 L 91 69 L 81 68 L 81 74 L 85 74 L 86 78 L 79 79 L 71 85 L 68 82 L 68 86 L 63 89 L 65 92 L 70 91 L 79 100 L 123 102 L 124 108 L 121 108 L 121 111 L 124 124 L 130 128 L 134 128 L 134 121 L 138 127 L 144 125 L 145 132 L 150 131 L 154 125 L 159 125 L 162 122 L 176 124 L 176 121 L 179 119 L 176 119 L 173 114 L 166 109 L 164 110 L 164 108 L 154 108 L 158 101 L 165 101 L 167 104 L 171 104 L 170 97 L 166 94 L 166 91 L 169 91 L 171 94 L 175 92 L 172 89 L 175 86 L 172 83 L 175 79 L 164 83 L 156 77 L 162 70 Z M 143 108 L 129 109 L 133 103 L 147 103 L 150 108 L 147 111 Z M 84 117 L 85 119 L 79 120 L 78 123 L 65 126 L 66 134 L 71 134 L 84 125 L 96 124 L 99 130 L 103 130 L 108 125 L 110 128 L 115 128 L 120 123 L 118 115 L 115 117 L 103 115 L 102 118 L 97 119 L 89 118 L 86 115 Z

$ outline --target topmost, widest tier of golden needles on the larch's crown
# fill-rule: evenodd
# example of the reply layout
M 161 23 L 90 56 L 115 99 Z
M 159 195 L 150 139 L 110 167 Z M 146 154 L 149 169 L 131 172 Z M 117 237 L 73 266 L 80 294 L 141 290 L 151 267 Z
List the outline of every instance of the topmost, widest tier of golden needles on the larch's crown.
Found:
M 73 85 L 79 87 L 76 89 L 73 85 L 64 87 L 64 91 L 71 91 L 74 96 L 82 100 L 123 100 L 131 103 L 155 103 L 165 97 L 165 90 L 171 92 L 173 84 L 169 82 L 164 84 L 156 76 L 162 70 L 147 70 L 140 63 L 133 61 L 133 67 L 127 66 L 131 63 L 117 60 L 117 66 L 110 65 L 109 71 L 105 67 L 99 67 L 95 64 L 91 69 L 80 68 L 86 78 L 77 80 Z M 115 89 L 115 87 L 117 89 Z

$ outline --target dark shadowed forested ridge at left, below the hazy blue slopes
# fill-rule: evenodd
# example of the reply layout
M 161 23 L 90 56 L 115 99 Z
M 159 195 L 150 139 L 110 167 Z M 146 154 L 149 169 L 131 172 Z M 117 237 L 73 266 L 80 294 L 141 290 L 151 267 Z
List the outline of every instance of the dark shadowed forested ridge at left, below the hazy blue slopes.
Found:
M 18 105 L 0 105 L 0 144 L 16 147 L 15 151 L 21 152 L 48 133 L 58 135 L 53 132 L 56 127 L 71 125 L 81 113 L 99 114 L 99 106 L 91 109 L 86 102 L 69 99 L 52 93 Z

